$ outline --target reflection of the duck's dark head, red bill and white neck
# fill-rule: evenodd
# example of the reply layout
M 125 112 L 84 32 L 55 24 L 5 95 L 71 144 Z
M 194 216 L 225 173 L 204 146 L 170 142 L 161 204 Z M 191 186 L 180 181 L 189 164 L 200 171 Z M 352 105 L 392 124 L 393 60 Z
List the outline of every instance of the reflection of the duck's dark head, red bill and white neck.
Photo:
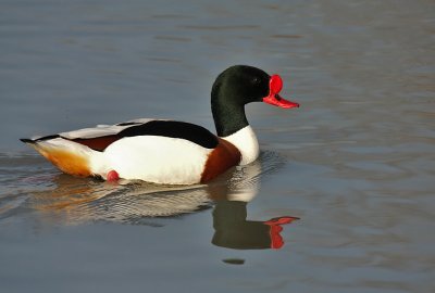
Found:
M 279 234 L 283 230 L 282 225 L 299 219 L 285 216 L 268 221 L 247 220 L 248 202 L 257 195 L 260 188 L 259 175 L 273 171 L 281 164 L 281 161 L 276 160 L 278 157 L 271 153 L 263 154 L 262 158 L 243 170 L 243 180 L 237 180 L 233 175 L 229 191 L 214 190 L 214 194 L 220 195 L 219 199 L 214 198 L 212 239 L 214 245 L 237 250 L 281 249 L 284 245 Z M 225 198 L 222 196 L 224 194 Z

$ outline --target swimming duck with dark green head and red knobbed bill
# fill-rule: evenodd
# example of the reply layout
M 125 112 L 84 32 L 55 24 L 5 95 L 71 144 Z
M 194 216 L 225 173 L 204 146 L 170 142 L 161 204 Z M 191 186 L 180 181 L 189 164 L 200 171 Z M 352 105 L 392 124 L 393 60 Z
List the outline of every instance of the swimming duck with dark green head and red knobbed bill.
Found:
M 159 184 L 207 183 L 259 156 L 259 142 L 245 114 L 246 104 L 299 107 L 279 95 L 282 89 L 279 75 L 234 65 L 217 76 L 211 89 L 216 135 L 186 122 L 139 118 L 21 141 L 72 176 Z

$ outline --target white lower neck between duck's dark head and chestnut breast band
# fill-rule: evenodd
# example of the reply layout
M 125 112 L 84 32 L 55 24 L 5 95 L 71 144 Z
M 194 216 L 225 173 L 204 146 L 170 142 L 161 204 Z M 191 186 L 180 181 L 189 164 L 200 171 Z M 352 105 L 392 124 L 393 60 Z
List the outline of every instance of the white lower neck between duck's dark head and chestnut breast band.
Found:
M 257 136 L 250 125 L 222 139 L 233 143 L 241 154 L 240 165 L 248 165 L 257 160 L 260 153 Z

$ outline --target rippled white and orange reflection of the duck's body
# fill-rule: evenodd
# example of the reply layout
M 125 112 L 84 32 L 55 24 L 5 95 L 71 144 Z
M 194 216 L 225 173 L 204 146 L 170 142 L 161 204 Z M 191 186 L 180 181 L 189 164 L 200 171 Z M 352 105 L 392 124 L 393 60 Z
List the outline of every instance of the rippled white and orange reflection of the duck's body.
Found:
M 96 220 L 147 224 L 149 218 L 192 213 L 211 202 L 203 186 L 113 184 L 66 175 L 52 180 L 57 188 L 32 192 L 27 205 L 46 220 L 66 225 Z

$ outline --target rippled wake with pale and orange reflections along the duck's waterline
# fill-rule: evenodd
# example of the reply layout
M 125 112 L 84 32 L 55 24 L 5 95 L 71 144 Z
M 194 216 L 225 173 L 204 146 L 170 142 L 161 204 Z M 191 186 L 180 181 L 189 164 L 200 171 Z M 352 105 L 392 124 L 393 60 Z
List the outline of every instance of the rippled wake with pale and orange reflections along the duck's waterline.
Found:
M 54 225 L 100 220 L 144 224 L 145 217 L 176 217 L 209 208 L 214 200 L 249 202 L 257 195 L 261 178 L 285 162 L 279 154 L 265 151 L 254 163 L 232 168 L 209 184 L 174 187 L 76 178 L 58 173 L 35 156 L 0 155 L 0 161 L 4 163 L 0 173 L 0 182 L 4 183 L 1 217 L 36 213 Z

